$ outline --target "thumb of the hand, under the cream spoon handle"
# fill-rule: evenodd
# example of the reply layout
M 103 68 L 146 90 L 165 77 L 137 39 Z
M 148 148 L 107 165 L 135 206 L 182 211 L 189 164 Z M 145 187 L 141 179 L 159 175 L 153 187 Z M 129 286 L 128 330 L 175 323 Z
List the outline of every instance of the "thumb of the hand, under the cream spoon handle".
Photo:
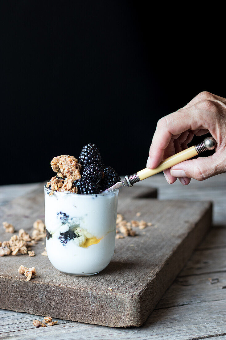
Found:
M 203 181 L 213 175 L 220 173 L 217 171 L 219 165 L 214 155 L 209 157 L 199 157 L 196 159 L 185 160 L 185 162 L 174 165 L 170 169 L 171 176 L 194 178 Z

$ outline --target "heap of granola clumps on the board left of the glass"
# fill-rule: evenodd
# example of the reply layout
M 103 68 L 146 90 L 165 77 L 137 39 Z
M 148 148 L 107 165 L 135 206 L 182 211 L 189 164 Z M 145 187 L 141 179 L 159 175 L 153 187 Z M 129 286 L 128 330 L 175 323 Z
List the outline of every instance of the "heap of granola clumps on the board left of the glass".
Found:
M 37 220 L 34 222 L 33 227 L 34 230 L 32 232 L 32 236 L 26 233 L 24 229 L 20 229 L 18 235 L 13 235 L 9 241 L 0 242 L 0 256 L 10 254 L 14 256 L 19 254 L 35 256 L 35 252 L 31 249 L 31 247 L 40 239 L 45 238 L 45 225 L 41 220 Z

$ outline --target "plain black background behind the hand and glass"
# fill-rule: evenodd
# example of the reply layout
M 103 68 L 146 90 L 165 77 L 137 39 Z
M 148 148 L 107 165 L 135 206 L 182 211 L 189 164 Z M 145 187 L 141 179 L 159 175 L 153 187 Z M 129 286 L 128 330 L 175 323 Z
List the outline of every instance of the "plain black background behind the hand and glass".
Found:
M 213 5 L 1 2 L 1 184 L 43 181 L 89 142 L 120 174 L 144 168 L 159 118 L 203 90 L 225 97 Z

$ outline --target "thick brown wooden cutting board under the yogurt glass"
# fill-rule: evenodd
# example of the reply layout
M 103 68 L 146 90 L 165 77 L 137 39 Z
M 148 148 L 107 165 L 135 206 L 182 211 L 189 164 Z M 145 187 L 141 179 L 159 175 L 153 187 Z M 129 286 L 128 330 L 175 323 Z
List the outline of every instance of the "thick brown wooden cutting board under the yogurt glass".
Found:
M 97 275 L 57 271 L 41 255 L 42 241 L 33 247 L 34 257 L 0 257 L 0 308 L 111 327 L 142 325 L 210 227 L 212 214 L 210 202 L 158 201 L 153 195 L 155 190 L 139 186 L 121 190 L 118 213 L 153 225 L 116 239 L 111 263 Z M 17 231 L 31 233 L 37 218 L 44 219 L 43 185 L 0 209 L 0 222 Z M 1 241 L 10 238 L 0 230 Z M 27 282 L 20 265 L 35 267 L 37 276 Z

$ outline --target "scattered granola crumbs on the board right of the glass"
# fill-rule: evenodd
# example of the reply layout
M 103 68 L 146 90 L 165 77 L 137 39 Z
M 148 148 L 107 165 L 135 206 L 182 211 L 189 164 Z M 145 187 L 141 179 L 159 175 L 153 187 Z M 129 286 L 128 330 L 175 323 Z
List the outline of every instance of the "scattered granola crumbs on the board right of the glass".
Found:
M 141 214 L 140 212 L 137 212 L 136 216 L 139 217 Z M 135 221 L 131 220 L 130 222 L 127 222 L 123 215 L 117 214 L 117 220 L 116 220 L 116 238 L 124 238 L 125 236 L 136 236 L 135 230 L 132 229 L 132 227 L 138 227 L 139 229 L 144 229 L 146 226 L 151 226 L 152 223 L 145 222 L 144 220 L 141 221 Z

